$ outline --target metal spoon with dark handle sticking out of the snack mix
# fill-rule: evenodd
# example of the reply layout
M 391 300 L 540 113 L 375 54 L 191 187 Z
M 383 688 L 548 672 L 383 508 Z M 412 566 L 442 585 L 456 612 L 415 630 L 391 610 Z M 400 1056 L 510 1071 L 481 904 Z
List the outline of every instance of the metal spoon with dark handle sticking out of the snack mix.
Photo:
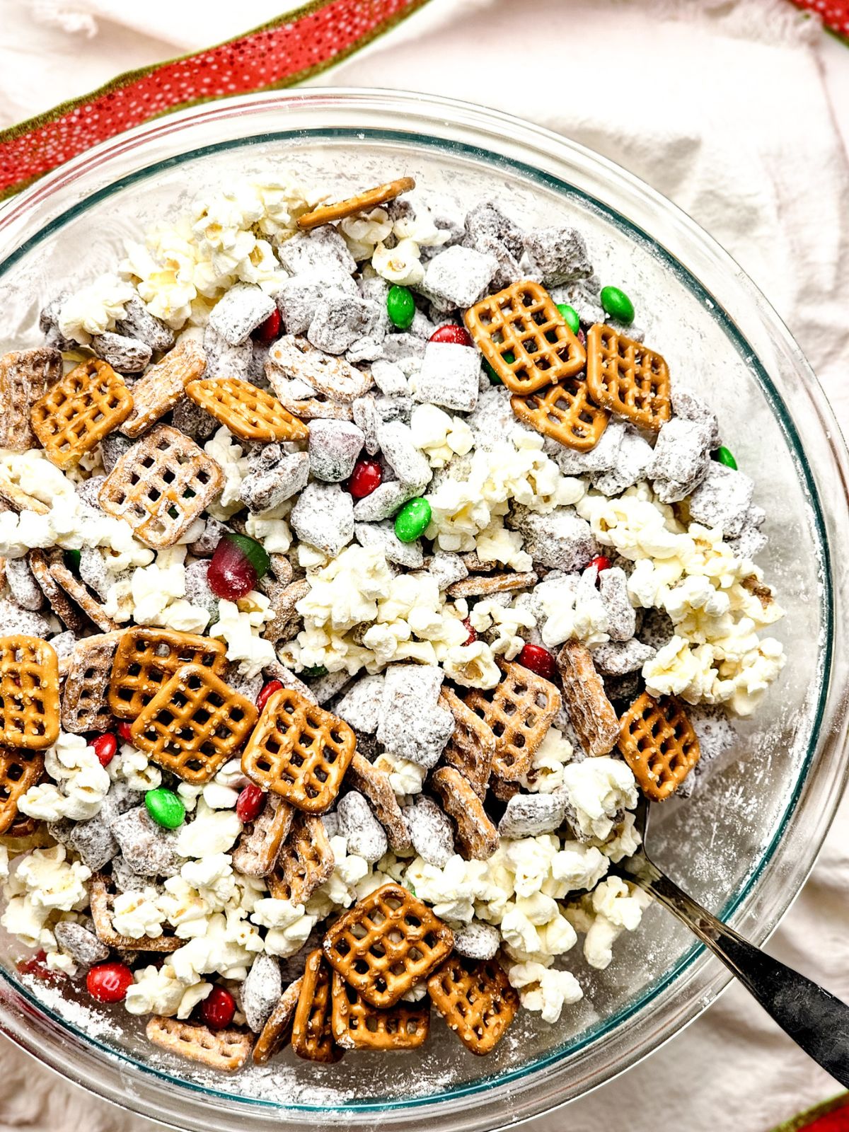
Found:
M 849 1088 L 849 1006 L 755 947 L 683 892 L 645 855 L 649 824 L 645 798 L 640 799 L 635 817 L 642 847 L 633 857 L 612 866 L 611 872 L 638 885 L 674 912 L 737 976 L 773 1021 Z

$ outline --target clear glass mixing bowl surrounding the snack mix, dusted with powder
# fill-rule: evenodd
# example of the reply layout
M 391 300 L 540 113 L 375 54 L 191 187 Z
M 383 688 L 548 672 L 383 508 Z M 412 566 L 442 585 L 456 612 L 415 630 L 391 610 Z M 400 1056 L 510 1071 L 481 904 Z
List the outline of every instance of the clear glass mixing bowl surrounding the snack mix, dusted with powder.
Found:
M 125 237 L 232 173 L 295 165 L 335 196 L 413 174 L 426 191 L 571 223 L 602 282 L 635 301 L 674 378 L 702 389 L 766 508 L 767 580 L 788 664 L 740 727 L 743 761 L 658 811 L 652 848 L 680 883 L 762 943 L 804 882 L 843 784 L 847 456 L 801 353 L 740 268 L 687 216 L 610 162 L 526 122 L 441 98 L 367 91 L 266 94 L 200 106 L 109 142 L 0 216 L 3 349 L 35 344 L 58 289 L 114 266 Z M 607 971 L 575 960 L 585 997 L 556 1026 L 522 1012 L 487 1058 L 435 1020 L 414 1054 L 338 1065 L 291 1050 L 233 1078 L 154 1050 L 143 1024 L 16 974 L 0 940 L 0 1021 L 46 1065 L 181 1129 L 348 1125 L 495 1129 L 600 1084 L 704 1010 L 729 976 L 660 908 Z M 578 949 L 576 949 L 577 951 Z

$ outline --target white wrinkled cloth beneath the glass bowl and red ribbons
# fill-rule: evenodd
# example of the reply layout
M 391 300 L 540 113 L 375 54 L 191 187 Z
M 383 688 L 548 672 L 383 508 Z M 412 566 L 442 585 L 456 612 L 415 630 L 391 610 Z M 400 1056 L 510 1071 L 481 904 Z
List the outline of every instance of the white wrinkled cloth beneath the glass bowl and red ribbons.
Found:
M 0 126 L 278 11 L 269 0 L 0 0 Z M 849 51 L 783 0 L 432 0 L 321 83 L 497 106 L 627 166 L 740 261 L 849 426 L 849 166 L 833 113 L 842 109 L 849 137 Z M 844 803 L 770 944 L 844 998 L 848 816 Z M 642 1065 L 533 1129 L 713 1132 L 732 1120 L 738 1132 L 766 1132 L 835 1091 L 735 986 Z M 153 1125 L 0 1045 L 0 1130 L 77 1127 Z

